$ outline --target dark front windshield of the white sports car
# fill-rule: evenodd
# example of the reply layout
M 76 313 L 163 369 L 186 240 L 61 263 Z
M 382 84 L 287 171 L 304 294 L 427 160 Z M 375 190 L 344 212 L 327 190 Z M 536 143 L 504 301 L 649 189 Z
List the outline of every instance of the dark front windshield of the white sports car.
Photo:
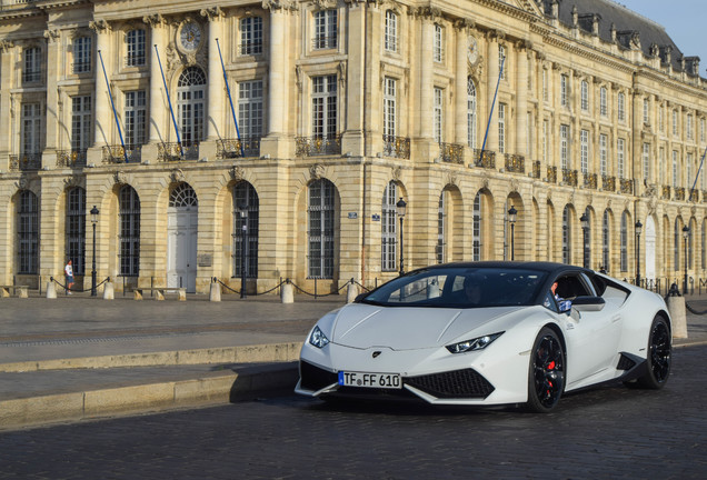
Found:
M 364 297 L 386 307 L 485 308 L 535 303 L 547 272 L 508 268 L 449 267 L 418 270 Z

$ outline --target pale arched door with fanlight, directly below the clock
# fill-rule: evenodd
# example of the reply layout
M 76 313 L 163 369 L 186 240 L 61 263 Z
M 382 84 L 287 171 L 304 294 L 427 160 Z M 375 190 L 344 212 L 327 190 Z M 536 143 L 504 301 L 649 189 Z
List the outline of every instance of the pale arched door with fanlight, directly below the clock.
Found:
M 167 209 L 167 287 L 197 290 L 197 232 L 199 202 L 188 183 L 169 194 Z

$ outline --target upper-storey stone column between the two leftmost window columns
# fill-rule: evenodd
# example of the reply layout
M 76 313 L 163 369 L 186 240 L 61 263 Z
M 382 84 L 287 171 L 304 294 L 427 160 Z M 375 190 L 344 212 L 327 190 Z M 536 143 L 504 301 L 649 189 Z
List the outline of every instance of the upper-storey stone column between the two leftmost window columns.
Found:
M 57 166 L 56 149 L 59 148 L 59 126 L 63 114 L 63 102 L 58 80 L 61 76 L 64 56 L 61 51 L 60 30 L 46 30 L 44 38 L 47 39 L 47 134 L 42 166 L 51 169 Z

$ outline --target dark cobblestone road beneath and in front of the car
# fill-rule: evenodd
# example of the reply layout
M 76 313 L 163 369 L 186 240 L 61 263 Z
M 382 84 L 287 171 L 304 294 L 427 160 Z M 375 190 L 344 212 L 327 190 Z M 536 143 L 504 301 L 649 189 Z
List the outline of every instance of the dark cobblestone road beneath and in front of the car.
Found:
M 675 351 L 664 390 L 511 409 L 271 397 L 0 433 L 0 479 L 704 479 L 707 347 Z

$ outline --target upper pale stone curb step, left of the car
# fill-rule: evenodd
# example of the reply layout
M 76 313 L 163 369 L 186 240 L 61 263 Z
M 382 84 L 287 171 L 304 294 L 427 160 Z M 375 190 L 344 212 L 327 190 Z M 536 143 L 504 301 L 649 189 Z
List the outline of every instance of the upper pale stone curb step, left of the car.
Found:
M 222 347 L 153 353 L 127 353 L 104 357 L 0 363 L 0 372 L 19 373 L 46 370 L 103 369 L 125 367 L 166 367 L 209 363 L 283 362 L 299 359 L 302 342 Z

